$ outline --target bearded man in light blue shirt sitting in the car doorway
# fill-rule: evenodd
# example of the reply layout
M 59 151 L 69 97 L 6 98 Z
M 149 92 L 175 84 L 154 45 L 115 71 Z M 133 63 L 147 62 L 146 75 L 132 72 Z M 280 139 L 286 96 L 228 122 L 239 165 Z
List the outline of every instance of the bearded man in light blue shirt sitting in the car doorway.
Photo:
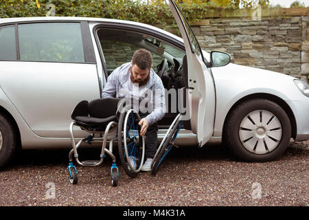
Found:
M 161 78 L 152 69 L 152 55 L 144 49 L 133 54 L 132 61 L 117 67 L 107 78 L 102 98 L 128 98 L 137 103 L 133 108 L 139 112 L 140 135 L 146 135 L 146 162 L 141 167 L 150 171 L 157 150 L 157 122 L 165 115 L 165 91 Z M 144 106 L 140 103 L 143 102 Z M 136 164 L 133 156 L 131 165 Z

